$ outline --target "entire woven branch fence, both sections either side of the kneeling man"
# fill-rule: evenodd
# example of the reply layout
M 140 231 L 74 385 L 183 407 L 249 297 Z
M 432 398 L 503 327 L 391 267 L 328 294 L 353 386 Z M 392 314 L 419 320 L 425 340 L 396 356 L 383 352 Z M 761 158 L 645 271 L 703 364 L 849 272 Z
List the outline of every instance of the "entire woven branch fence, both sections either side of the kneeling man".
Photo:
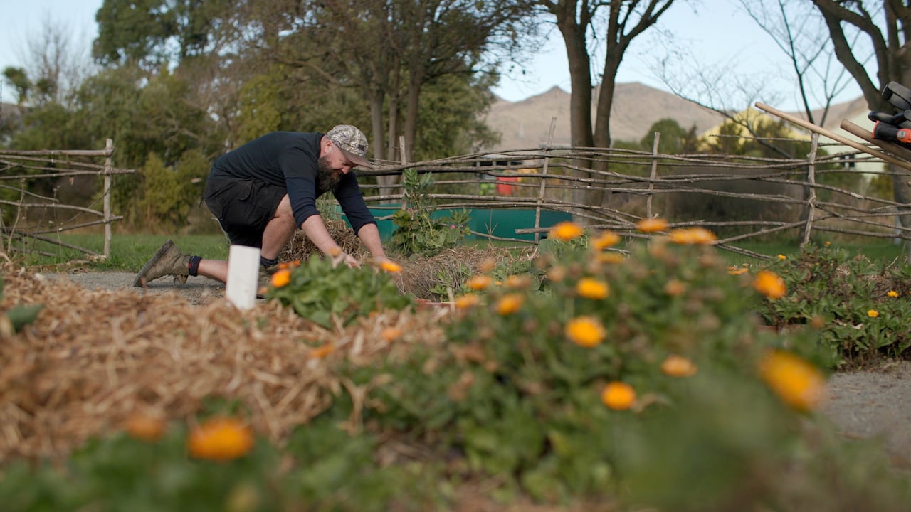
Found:
M 899 217 L 911 205 L 867 194 L 876 175 L 905 183 L 911 171 L 887 166 L 869 154 L 854 151 L 824 154 L 814 134 L 805 159 L 768 159 L 731 155 L 665 155 L 619 148 L 527 148 L 496 155 L 472 155 L 415 163 L 380 162 L 358 170 L 368 206 L 388 210 L 392 218 L 404 200 L 396 184 L 404 170 L 432 173 L 429 194 L 438 210 L 511 209 L 534 213 L 534 221 L 515 230 L 516 236 L 473 231 L 476 237 L 517 243 L 537 243 L 548 231 L 542 225 L 546 210 L 571 215 L 593 229 L 643 236 L 635 229 L 644 218 L 670 221 L 671 228 L 703 226 L 719 234 L 722 249 L 755 258 L 766 256 L 741 247 L 745 241 L 810 241 L 814 233 L 858 239 L 911 240 L 911 228 Z M 110 210 L 111 177 L 134 173 L 111 165 L 113 143 L 103 150 L 8 151 L 0 149 L 0 209 L 7 251 L 34 251 L 29 241 L 46 241 L 83 252 L 87 257 L 110 257 L 111 223 L 121 220 Z M 864 168 L 864 170 L 858 170 Z M 826 175 L 854 175 L 857 189 L 826 184 Z M 860 175 L 860 176 L 858 176 Z M 373 179 L 378 183 L 372 184 Z M 387 177 L 387 178 L 384 178 Z M 391 177 L 391 178 L 389 178 Z M 367 179 L 364 179 L 367 178 Z M 36 194 L 38 180 L 54 183 L 54 192 Z M 57 191 L 77 179 L 103 179 L 102 192 L 91 204 L 65 204 Z M 823 182 L 820 182 L 823 181 Z M 27 184 L 27 187 L 26 187 Z M 508 189 L 497 192 L 496 186 Z M 47 189 L 47 187 L 45 187 Z M 881 194 L 882 195 L 882 194 Z M 749 204 L 738 209 L 737 204 Z M 911 220 L 906 222 L 911 225 Z M 105 248 L 97 254 L 61 241 L 54 235 L 103 224 Z M 519 235 L 533 235 L 519 237 Z M 14 242 L 19 241 L 19 246 Z

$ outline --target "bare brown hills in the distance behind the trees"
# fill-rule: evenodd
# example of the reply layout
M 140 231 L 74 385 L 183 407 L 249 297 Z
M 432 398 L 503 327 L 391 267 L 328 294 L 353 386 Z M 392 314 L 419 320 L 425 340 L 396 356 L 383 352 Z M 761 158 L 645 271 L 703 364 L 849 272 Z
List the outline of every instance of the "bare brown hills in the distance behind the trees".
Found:
M 597 97 L 597 89 L 595 92 Z M 695 125 L 697 133 L 702 133 L 723 120 L 717 112 L 640 83 L 617 84 L 615 94 L 610 122 L 611 137 L 615 140 L 640 140 L 647 135 L 651 125 L 663 118 L 672 118 L 686 129 Z M 863 97 L 834 105 L 830 108 L 824 127 L 840 131 L 838 125 L 842 119 L 865 108 Z M 817 119 L 820 114 L 821 112 L 814 112 Z M 502 135 L 502 140 L 495 147 L 485 149 L 497 151 L 543 147 L 548 141 L 551 118 L 557 118 L 553 145 L 568 146 L 568 92 L 553 87 L 543 94 L 522 101 L 497 99 L 487 113 L 486 123 Z

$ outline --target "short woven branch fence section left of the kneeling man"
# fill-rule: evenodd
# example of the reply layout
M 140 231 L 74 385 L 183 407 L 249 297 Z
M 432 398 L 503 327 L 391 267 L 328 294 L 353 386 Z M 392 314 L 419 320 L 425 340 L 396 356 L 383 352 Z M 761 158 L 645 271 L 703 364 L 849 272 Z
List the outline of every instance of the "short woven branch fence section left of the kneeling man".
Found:
M 4 249 L 11 252 L 36 252 L 36 242 L 81 252 L 89 259 L 110 258 L 111 223 L 122 220 L 111 211 L 111 178 L 132 174 L 134 169 L 112 165 L 114 143 L 110 138 L 104 149 L 48 149 L 15 151 L 0 149 L 0 232 Z M 88 204 L 83 194 L 69 189 L 81 185 L 95 187 L 102 180 L 101 192 Z M 37 191 L 36 191 L 37 190 Z M 66 198 L 66 199 L 61 199 Z M 67 204 L 66 200 L 72 201 Z M 102 253 L 60 239 L 60 233 L 103 225 Z

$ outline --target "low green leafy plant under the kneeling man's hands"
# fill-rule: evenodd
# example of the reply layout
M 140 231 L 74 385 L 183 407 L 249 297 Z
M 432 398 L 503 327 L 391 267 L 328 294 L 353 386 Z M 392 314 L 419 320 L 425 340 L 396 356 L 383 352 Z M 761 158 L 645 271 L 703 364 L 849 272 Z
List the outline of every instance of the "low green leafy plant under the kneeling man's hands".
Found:
M 328 329 L 370 312 L 415 306 L 414 298 L 399 292 L 386 271 L 370 266 L 354 269 L 322 258 L 278 271 L 265 297 Z

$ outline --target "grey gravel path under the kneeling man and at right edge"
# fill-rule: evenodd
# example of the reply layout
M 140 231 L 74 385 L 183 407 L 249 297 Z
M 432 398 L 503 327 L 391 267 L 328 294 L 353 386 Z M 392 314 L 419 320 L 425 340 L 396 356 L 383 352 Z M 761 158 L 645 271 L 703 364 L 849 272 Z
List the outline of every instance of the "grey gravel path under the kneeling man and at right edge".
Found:
M 46 274 L 68 279 L 87 290 L 128 289 L 137 293 L 177 293 L 193 304 L 224 298 L 224 284 L 206 278 L 189 278 L 179 284 L 165 278 L 134 288 L 131 272 L 73 272 Z M 258 299 L 261 301 L 261 299 Z M 822 414 L 845 437 L 880 440 L 898 466 L 911 468 L 911 361 L 888 361 L 861 370 L 840 371 L 828 381 Z

